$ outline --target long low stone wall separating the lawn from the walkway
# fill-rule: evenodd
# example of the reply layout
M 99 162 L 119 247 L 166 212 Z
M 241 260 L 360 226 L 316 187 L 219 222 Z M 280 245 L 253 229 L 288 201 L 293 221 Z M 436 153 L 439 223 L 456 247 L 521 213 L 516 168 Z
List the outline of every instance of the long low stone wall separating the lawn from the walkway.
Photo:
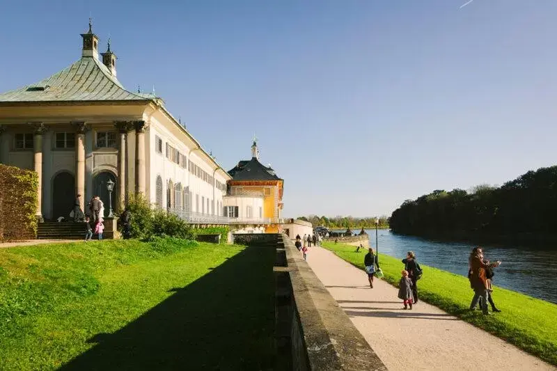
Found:
M 288 236 L 277 236 L 275 370 L 386 371 Z

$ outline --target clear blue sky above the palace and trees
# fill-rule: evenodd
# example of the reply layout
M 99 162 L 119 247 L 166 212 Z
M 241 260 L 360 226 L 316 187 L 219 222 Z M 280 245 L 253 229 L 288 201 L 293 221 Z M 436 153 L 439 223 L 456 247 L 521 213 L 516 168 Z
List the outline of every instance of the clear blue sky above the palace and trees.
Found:
M 76 61 L 91 13 L 223 167 L 256 132 L 285 216 L 390 215 L 556 163 L 557 1 L 465 2 L 4 1 L 0 91 Z

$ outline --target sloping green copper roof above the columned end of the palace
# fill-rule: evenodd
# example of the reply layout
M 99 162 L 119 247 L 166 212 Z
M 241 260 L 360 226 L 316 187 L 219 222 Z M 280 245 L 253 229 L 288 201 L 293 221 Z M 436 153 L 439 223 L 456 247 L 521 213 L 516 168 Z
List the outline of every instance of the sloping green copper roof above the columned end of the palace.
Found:
M 97 58 L 84 56 L 36 84 L 0 94 L 0 102 L 148 101 L 151 93 L 132 93 Z

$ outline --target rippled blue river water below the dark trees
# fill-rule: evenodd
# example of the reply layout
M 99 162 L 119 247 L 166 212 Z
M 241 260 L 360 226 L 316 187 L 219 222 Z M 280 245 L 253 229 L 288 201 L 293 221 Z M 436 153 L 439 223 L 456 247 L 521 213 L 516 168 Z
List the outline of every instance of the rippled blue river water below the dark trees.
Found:
M 366 230 L 370 244 L 375 246 L 375 230 Z M 379 253 L 395 258 L 405 258 L 407 251 L 414 251 L 418 262 L 466 276 L 468 257 L 474 244 L 466 242 L 436 242 L 421 237 L 395 235 L 389 230 L 379 230 Z M 501 260 L 494 269 L 494 285 L 522 292 L 531 297 L 557 304 L 557 248 L 527 246 L 482 245 L 485 258 Z M 402 267 L 402 262 L 400 263 Z

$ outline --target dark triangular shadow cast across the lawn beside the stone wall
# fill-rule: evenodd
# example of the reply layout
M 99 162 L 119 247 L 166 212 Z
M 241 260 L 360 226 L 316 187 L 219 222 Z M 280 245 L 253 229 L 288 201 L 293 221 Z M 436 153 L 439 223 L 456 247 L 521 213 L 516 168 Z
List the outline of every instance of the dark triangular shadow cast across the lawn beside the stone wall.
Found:
M 246 247 L 60 370 L 271 370 L 274 247 Z

